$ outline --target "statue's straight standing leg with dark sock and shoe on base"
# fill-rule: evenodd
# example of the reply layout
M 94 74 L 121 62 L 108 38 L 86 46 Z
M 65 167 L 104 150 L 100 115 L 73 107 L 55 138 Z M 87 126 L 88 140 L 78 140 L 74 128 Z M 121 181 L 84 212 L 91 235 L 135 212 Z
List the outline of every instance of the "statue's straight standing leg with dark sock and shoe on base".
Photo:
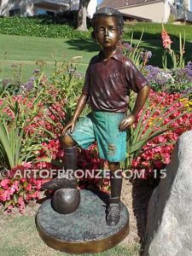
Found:
M 110 226 L 119 223 L 120 218 L 120 194 L 122 188 L 122 172 L 119 162 L 109 162 L 111 197 L 109 199 L 107 223 Z

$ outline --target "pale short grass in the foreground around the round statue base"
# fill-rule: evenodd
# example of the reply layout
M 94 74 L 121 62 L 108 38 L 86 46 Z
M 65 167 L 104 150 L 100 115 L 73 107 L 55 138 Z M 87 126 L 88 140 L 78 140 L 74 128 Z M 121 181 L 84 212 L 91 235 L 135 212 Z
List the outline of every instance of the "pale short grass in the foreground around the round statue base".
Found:
M 32 214 L 33 215 L 33 214 Z M 0 255 L 2 256 L 70 256 L 48 247 L 38 236 L 34 216 L 0 215 Z M 103 253 L 87 253 L 87 256 L 138 256 L 139 245 L 116 246 Z

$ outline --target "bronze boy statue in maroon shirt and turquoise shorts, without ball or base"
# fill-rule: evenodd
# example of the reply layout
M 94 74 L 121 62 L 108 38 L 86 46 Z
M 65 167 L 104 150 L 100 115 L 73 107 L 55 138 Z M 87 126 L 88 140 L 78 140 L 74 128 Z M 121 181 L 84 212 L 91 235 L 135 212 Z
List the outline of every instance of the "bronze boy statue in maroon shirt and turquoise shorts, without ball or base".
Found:
M 66 169 L 73 172 L 77 169 L 77 144 L 88 148 L 96 141 L 99 156 L 108 160 L 111 183 L 108 225 L 118 224 L 120 218 L 122 176 L 119 162 L 125 160 L 125 130 L 136 121 L 137 113 L 143 108 L 150 90 L 143 74 L 119 49 L 123 23 L 122 15 L 115 9 L 96 11 L 92 20 L 92 38 L 100 45 L 101 51 L 90 60 L 73 118 L 62 132 Z M 132 112 L 127 115 L 130 90 L 137 92 L 137 99 Z M 91 112 L 78 121 L 88 101 Z M 57 177 L 45 183 L 44 188 L 76 188 L 73 172 L 71 177 Z

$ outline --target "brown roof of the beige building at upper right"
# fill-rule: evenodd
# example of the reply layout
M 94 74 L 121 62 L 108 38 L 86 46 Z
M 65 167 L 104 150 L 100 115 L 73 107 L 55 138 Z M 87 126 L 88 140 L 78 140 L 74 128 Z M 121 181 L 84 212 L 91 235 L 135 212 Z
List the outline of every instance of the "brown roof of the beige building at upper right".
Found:
M 103 0 L 100 4 L 101 7 L 111 7 L 111 8 L 125 8 L 130 6 L 137 6 L 143 5 L 148 3 L 155 3 L 155 2 L 163 2 L 164 0 Z

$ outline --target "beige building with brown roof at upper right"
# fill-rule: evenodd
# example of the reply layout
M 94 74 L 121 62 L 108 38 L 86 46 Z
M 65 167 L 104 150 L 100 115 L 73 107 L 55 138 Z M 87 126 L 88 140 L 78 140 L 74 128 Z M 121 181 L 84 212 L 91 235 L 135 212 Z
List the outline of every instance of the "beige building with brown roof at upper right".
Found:
M 176 20 L 192 21 L 191 0 L 103 0 L 101 7 L 118 9 L 122 14 L 134 15 L 153 22 Z

